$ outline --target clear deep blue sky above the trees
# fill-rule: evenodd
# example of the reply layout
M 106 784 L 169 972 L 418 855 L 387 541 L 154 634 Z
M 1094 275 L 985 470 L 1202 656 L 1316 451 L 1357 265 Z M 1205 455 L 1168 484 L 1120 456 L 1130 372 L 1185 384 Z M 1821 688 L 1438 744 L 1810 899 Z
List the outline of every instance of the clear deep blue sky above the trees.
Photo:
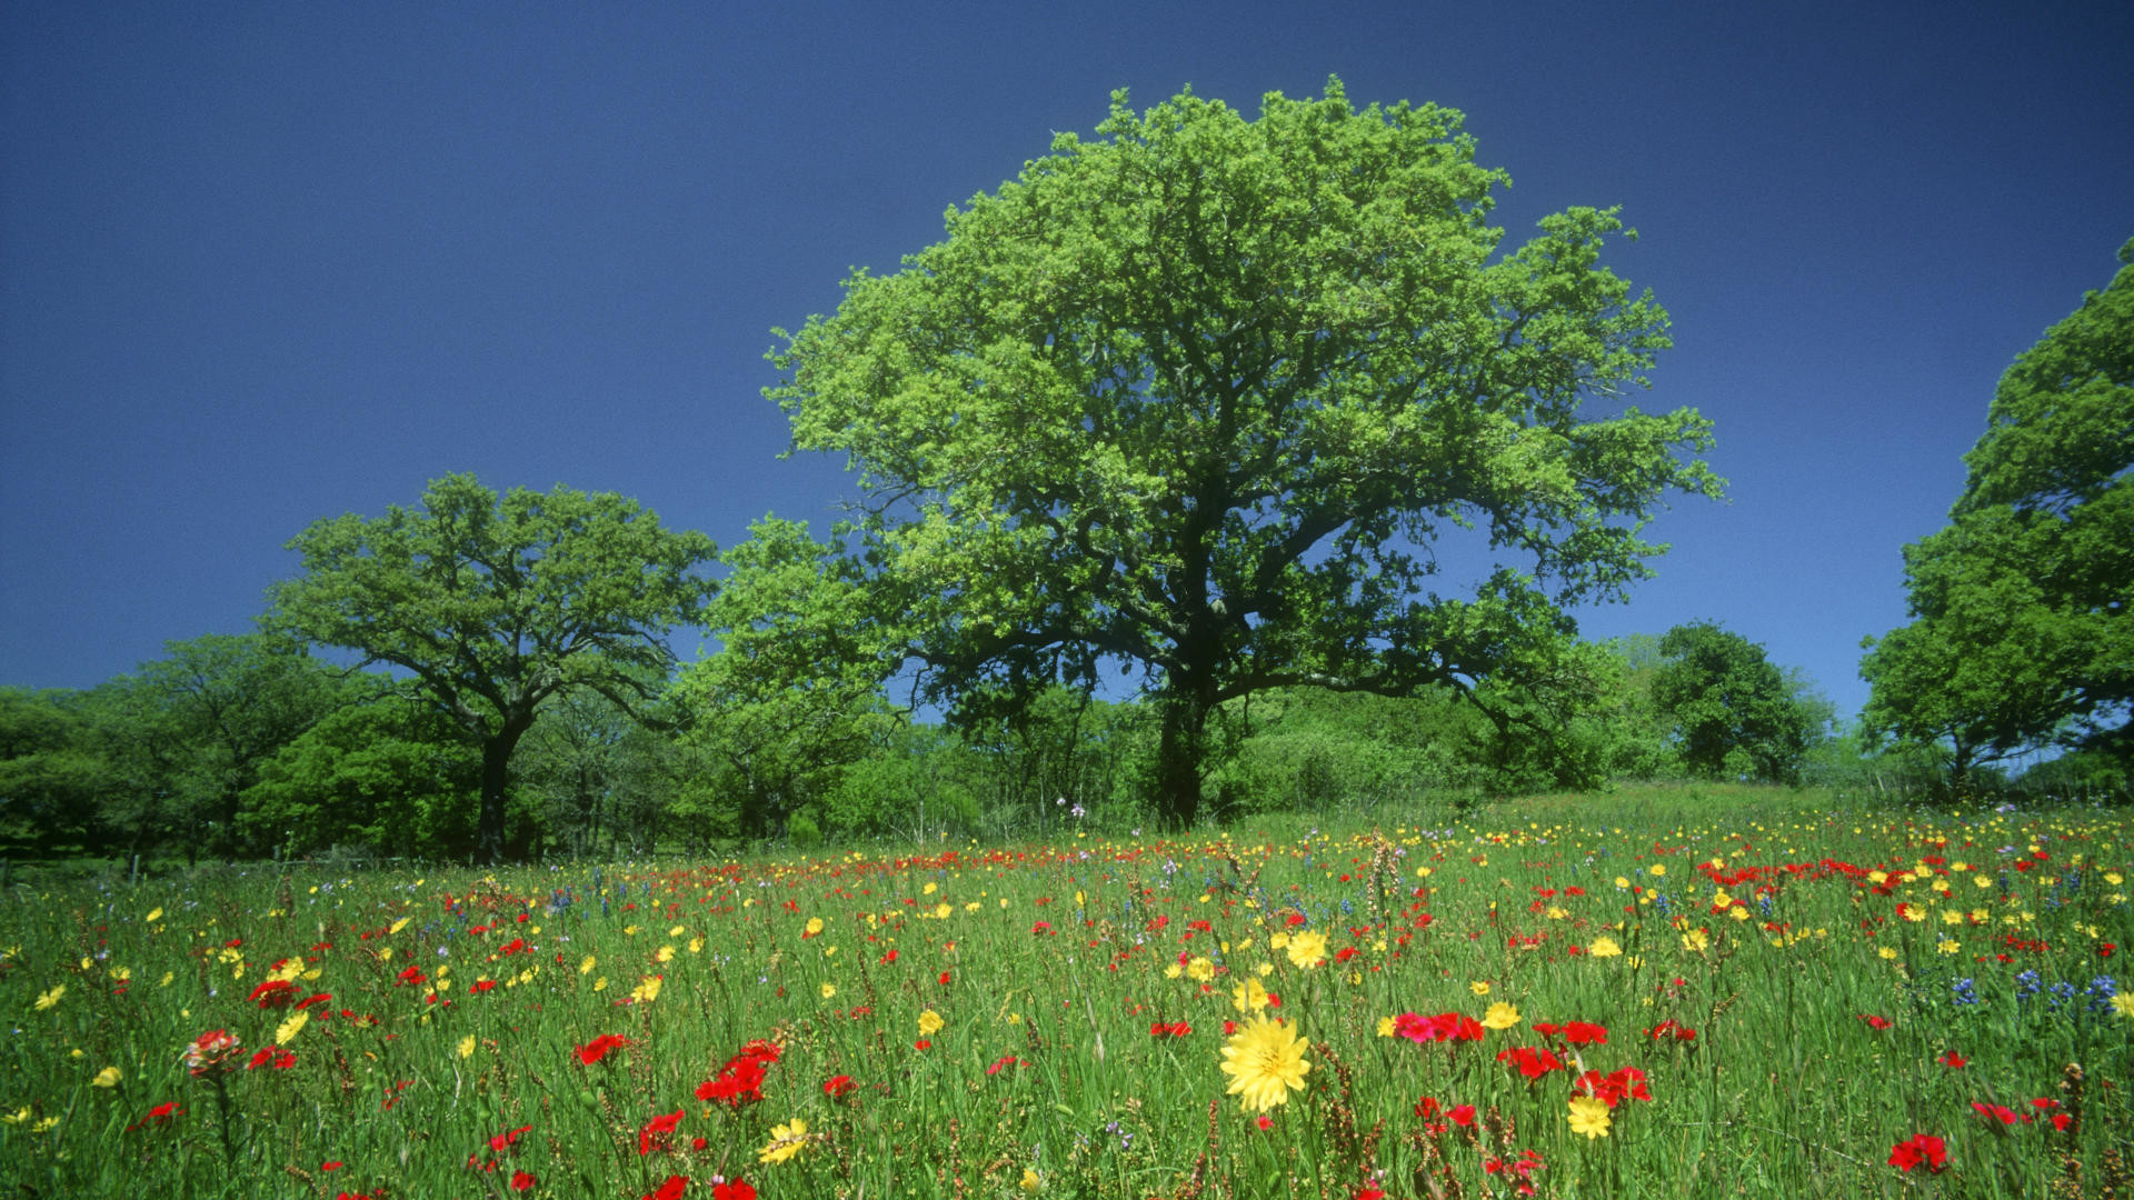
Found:
M 2134 235 L 2134 6 L 0 9 L 0 683 L 245 632 L 284 542 L 446 472 L 822 519 L 773 325 L 1095 126 L 1112 88 L 1462 109 L 1519 241 L 1622 205 L 1645 408 L 1726 504 L 1590 636 L 1718 619 L 1852 713 L 2008 361 Z

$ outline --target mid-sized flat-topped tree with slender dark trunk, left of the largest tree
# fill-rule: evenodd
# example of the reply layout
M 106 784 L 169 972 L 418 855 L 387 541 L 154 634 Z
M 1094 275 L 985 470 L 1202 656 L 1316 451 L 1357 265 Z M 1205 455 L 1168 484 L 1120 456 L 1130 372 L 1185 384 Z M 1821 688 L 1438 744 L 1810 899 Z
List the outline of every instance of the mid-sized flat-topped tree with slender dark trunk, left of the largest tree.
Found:
M 717 553 L 615 493 L 499 498 L 467 474 L 431 483 L 418 508 L 318 521 L 290 549 L 303 574 L 273 587 L 267 621 L 405 670 L 482 749 L 476 841 L 491 863 L 510 758 L 542 702 L 574 690 L 649 698 L 647 675 L 672 664 L 666 634 L 715 591 L 696 570 Z

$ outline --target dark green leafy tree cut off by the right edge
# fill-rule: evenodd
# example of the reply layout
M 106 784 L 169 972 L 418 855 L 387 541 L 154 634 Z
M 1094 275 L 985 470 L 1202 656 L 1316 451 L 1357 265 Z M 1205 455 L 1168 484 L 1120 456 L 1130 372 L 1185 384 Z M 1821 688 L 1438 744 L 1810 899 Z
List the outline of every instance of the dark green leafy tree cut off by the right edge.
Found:
M 2002 376 L 1948 527 L 1904 549 L 1910 626 L 1865 643 L 1872 735 L 1978 762 L 2134 762 L 2134 241 Z

